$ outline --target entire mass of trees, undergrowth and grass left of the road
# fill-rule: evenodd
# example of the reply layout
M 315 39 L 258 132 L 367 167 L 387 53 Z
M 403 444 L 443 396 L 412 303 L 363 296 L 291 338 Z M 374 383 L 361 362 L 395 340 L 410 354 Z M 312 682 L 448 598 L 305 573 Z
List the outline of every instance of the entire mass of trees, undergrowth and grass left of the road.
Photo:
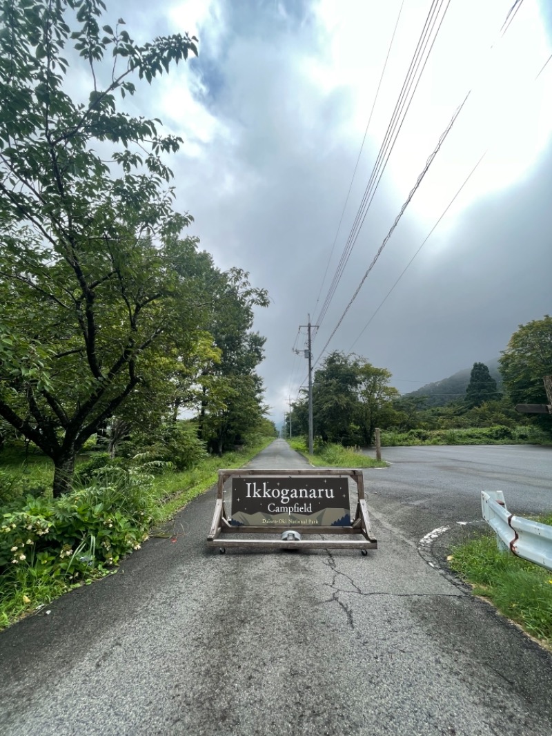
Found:
M 268 294 L 187 233 L 183 141 L 129 105 L 198 40 L 107 14 L 0 6 L 0 625 L 112 571 L 276 434 Z

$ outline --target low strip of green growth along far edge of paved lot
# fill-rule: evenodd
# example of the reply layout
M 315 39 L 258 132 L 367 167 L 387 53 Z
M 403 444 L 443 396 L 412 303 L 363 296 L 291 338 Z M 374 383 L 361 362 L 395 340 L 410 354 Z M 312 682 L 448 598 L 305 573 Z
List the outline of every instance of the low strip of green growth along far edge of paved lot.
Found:
M 454 429 L 411 429 L 382 431 L 384 447 L 414 445 L 552 445 L 552 436 L 539 427 L 467 427 Z

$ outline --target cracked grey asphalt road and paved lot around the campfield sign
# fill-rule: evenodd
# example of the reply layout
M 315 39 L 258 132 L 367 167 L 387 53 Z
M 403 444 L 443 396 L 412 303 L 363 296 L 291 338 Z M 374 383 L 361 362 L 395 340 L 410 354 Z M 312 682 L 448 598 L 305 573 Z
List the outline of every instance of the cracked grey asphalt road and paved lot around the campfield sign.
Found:
M 365 474 L 366 557 L 219 555 L 214 493 L 195 499 L 176 542 L 0 634 L 0 734 L 550 736 L 551 655 L 418 553 L 478 517 L 481 484 L 512 507 L 550 500 L 548 450 L 479 450 L 386 452 Z M 308 466 L 277 440 L 255 467 Z M 526 489 L 511 504 L 509 469 Z

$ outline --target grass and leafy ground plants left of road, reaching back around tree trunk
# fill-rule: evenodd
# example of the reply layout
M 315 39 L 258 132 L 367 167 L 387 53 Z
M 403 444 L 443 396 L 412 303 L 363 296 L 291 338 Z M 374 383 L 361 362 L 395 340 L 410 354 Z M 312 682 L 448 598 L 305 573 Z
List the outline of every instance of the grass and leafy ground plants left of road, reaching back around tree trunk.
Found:
M 77 461 L 80 480 L 61 498 L 52 497 L 48 458 L 21 447 L 0 453 L 0 630 L 116 573 L 150 535 L 169 537 L 167 521 L 216 483 L 219 468 L 241 467 L 273 439 L 252 434 L 244 447 L 180 470 L 169 461 L 106 462 L 105 453 L 89 453 Z

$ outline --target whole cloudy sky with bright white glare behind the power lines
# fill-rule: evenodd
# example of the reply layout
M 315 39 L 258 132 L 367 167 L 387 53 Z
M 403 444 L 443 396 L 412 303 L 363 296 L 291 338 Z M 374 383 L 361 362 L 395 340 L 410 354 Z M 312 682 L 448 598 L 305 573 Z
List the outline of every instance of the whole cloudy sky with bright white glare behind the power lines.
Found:
M 314 358 L 470 90 L 328 350 L 364 355 L 408 392 L 497 357 L 517 325 L 551 311 L 552 61 L 535 77 L 552 54 L 552 14 L 548 0 L 523 0 L 501 35 L 513 2 L 450 1 Z M 307 374 L 291 352 L 299 325 L 316 319 L 328 293 L 430 7 L 107 0 L 109 18 L 122 15 L 137 39 L 199 37 L 199 58 L 140 85 L 135 105 L 185 139 L 171 167 L 177 208 L 195 218 L 191 233 L 219 267 L 239 266 L 269 290 L 255 329 L 267 339 L 260 372 L 277 423 Z M 304 342 L 305 330 L 297 347 Z

